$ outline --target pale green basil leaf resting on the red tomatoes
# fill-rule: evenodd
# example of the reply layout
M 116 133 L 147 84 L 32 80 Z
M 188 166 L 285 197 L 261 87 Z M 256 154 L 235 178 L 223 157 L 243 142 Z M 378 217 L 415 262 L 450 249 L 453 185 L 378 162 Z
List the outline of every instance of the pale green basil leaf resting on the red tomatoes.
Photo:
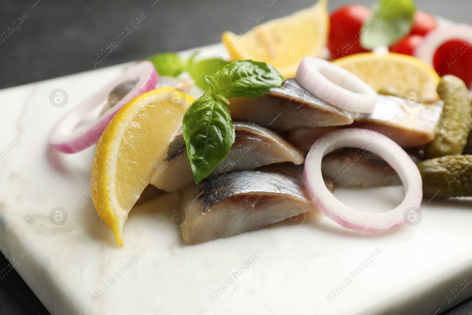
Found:
M 361 46 L 372 50 L 396 43 L 410 33 L 415 11 L 413 0 L 380 0 L 361 29 Z

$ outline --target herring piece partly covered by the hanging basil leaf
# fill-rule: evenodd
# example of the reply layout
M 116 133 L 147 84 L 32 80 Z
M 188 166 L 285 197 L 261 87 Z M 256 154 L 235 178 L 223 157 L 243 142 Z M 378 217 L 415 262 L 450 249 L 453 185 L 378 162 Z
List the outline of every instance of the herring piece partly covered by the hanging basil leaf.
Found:
M 235 143 L 226 159 L 217 165 L 209 177 L 236 170 L 253 170 L 272 163 L 304 162 L 303 151 L 276 132 L 243 121 L 233 121 L 233 126 Z M 165 191 L 177 191 L 195 183 L 182 134 L 169 145 L 164 161 L 156 162 L 150 183 Z

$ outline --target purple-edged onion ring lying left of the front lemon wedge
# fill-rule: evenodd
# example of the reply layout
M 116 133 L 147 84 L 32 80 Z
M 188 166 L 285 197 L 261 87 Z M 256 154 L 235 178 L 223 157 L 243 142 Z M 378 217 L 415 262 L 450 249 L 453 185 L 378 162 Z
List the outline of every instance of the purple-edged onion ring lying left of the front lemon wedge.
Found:
M 98 92 L 80 102 L 52 128 L 49 143 L 63 153 L 76 153 L 96 143 L 110 120 L 136 96 L 151 91 L 158 74 L 151 61 L 137 63 Z

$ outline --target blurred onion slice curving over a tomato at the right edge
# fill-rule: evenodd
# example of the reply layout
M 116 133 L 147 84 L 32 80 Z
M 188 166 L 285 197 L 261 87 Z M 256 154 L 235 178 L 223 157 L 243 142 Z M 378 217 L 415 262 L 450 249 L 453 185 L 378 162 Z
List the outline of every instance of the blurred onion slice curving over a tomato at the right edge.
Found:
M 460 40 L 472 45 L 472 26 L 460 24 L 438 28 L 426 35 L 423 43 L 416 48 L 414 55 L 434 68 L 434 54 L 442 44 L 450 40 Z

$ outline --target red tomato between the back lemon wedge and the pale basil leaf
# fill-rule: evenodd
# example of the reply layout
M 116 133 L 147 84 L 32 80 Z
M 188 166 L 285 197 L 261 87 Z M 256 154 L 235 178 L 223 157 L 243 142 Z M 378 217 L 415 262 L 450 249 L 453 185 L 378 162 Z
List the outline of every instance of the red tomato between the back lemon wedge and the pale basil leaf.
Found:
M 360 31 L 370 12 L 365 6 L 353 4 L 331 13 L 328 49 L 333 58 L 366 51 L 360 45 Z

